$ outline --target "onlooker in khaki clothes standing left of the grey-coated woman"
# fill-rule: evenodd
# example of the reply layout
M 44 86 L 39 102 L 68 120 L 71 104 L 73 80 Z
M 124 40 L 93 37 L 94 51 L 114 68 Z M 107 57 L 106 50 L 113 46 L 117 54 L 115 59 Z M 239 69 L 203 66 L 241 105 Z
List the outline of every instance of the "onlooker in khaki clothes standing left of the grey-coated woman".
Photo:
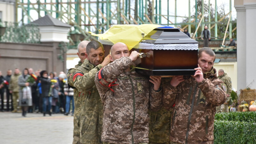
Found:
M 9 90 L 10 93 L 12 93 L 12 105 L 13 105 L 13 113 L 17 112 L 18 109 L 18 102 L 17 100 L 19 99 L 19 90 L 20 86 L 18 84 L 18 80 L 20 77 L 20 69 L 15 68 L 14 74 L 11 76 L 10 83 L 9 83 Z

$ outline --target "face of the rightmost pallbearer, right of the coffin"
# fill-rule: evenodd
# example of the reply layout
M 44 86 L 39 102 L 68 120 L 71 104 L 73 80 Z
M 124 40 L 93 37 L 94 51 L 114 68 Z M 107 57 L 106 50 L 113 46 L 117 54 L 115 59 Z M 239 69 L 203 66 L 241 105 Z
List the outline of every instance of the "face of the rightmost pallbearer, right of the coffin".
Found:
M 210 56 L 205 52 L 201 53 L 201 57 L 198 58 L 198 64 L 200 68 L 202 68 L 203 74 L 206 72 L 210 72 L 214 64 L 213 62 L 214 62 L 214 56 Z

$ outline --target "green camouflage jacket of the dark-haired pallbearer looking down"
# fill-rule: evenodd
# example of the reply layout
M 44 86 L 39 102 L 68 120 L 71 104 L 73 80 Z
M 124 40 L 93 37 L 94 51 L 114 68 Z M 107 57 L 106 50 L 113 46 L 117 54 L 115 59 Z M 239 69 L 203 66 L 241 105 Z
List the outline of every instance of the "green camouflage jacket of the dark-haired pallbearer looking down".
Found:
M 100 144 L 102 131 L 102 101 L 95 86 L 94 78 L 102 65 L 94 67 L 89 60 L 72 71 L 73 86 L 80 92 L 80 142 Z M 79 96 L 78 96 L 79 97 Z

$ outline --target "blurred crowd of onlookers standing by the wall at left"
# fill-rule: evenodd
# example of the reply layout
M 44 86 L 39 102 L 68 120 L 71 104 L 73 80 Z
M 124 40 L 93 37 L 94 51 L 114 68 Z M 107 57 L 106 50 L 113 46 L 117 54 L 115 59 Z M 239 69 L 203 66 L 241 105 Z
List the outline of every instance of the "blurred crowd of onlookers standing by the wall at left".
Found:
M 4 92 L 7 100 L 6 109 Z M 34 72 L 33 68 L 24 68 L 20 72 L 19 68 L 15 68 L 13 74 L 12 70 L 8 69 L 7 75 L 3 76 L 0 71 L 0 94 L 2 112 L 22 112 L 22 116 L 36 112 L 51 116 L 54 113 L 68 115 L 72 109 L 71 115 L 74 114 L 73 89 L 68 88 L 64 72 L 57 75 L 56 72 L 48 73 L 41 69 Z

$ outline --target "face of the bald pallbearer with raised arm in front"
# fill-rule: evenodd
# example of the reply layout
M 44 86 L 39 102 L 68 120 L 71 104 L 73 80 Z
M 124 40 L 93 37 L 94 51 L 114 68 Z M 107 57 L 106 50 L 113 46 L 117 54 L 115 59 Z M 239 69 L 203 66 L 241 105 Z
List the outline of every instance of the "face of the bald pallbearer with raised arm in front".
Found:
M 121 57 L 129 57 L 130 52 L 125 44 L 118 44 L 111 50 L 110 60 L 114 61 L 120 59 Z

